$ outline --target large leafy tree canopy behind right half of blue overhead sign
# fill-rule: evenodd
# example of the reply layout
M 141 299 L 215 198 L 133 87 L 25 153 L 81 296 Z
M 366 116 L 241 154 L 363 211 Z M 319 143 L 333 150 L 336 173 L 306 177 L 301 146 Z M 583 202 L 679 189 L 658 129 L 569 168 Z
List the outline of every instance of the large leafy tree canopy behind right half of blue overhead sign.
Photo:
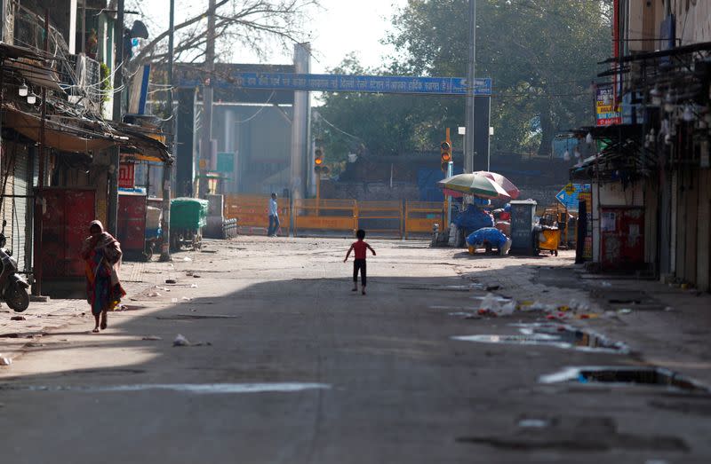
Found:
M 478 0 L 476 75 L 491 77 L 494 152 L 548 153 L 555 133 L 593 122 L 591 83 L 611 55 L 611 0 Z M 379 70 L 353 56 L 339 73 L 467 75 L 467 0 L 411 0 L 384 39 L 394 57 Z M 464 125 L 464 98 L 332 93 L 320 113 L 339 130 L 317 136 L 340 153 L 356 136 L 371 153 L 431 150 L 444 128 Z M 459 140 L 455 140 L 459 144 Z

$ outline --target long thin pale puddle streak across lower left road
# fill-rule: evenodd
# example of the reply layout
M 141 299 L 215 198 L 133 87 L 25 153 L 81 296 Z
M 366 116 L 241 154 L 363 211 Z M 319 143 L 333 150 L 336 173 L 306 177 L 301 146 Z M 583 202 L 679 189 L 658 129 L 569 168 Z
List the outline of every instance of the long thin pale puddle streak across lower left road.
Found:
M 326 383 L 138 383 L 133 385 L 74 386 L 74 385 L 0 385 L 0 390 L 21 391 L 82 391 L 82 392 L 133 392 L 169 390 L 196 394 L 236 393 L 294 393 L 309 389 L 331 389 Z

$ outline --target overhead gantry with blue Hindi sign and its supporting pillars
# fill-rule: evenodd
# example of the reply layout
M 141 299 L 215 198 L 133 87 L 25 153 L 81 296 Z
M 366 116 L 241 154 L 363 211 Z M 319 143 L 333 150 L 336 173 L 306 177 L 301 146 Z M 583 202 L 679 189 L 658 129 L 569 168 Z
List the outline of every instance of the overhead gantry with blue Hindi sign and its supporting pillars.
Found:
M 291 150 L 289 157 L 290 178 L 284 187 L 289 188 L 295 199 L 305 198 L 315 179 L 311 173 L 310 125 L 311 107 L 309 92 L 372 92 L 387 94 L 415 94 L 466 97 L 472 92 L 475 105 L 475 156 L 471 165 L 475 170 L 488 169 L 489 164 L 489 125 L 491 107 L 491 79 L 477 78 L 473 86 L 463 77 L 432 77 L 403 75 L 316 75 L 310 74 L 310 51 L 308 44 L 297 44 L 294 53 L 294 65 L 257 66 L 232 65 L 213 75 L 209 85 L 224 94 L 235 93 L 240 101 L 261 105 L 290 105 L 291 114 L 282 110 L 282 114 L 291 123 Z M 292 71 L 292 72 L 286 72 Z M 179 108 L 192 106 L 196 101 L 195 90 L 206 82 L 199 71 L 188 72 L 179 80 Z M 182 91 L 180 91 L 182 90 Z M 182 94 L 182 97 L 180 95 Z M 246 98 L 245 98 L 246 97 Z M 234 102 L 239 103 L 239 102 Z M 220 103 L 218 103 L 220 105 Z M 281 106 L 280 106 L 281 108 Z M 183 114 L 183 121 L 180 121 Z M 180 141 L 180 134 L 190 133 L 195 129 L 192 109 L 180 112 L 178 118 L 179 145 L 177 153 L 177 183 L 191 185 L 195 173 L 195 144 L 192 141 Z M 219 123 L 219 122 L 218 122 Z M 199 147 L 201 162 L 207 162 L 210 169 L 216 169 L 216 148 Z M 466 150 L 465 153 L 471 153 Z M 284 160 L 286 161 L 286 160 Z M 183 193 L 188 193 L 183 190 Z

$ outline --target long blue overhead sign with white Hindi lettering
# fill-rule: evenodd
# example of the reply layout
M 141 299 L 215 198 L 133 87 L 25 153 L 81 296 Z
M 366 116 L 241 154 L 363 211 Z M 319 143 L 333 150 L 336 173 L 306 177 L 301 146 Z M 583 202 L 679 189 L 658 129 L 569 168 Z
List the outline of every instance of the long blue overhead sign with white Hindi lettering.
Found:
M 181 87 L 202 85 L 183 81 Z M 237 73 L 213 86 L 246 90 L 311 90 L 376 93 L 467 95 L 461 77 L 411 77 L 403 75 L 296 75 L 289 73 Z M 491 79 L 475 79 L 475 95 L 491 95 Z

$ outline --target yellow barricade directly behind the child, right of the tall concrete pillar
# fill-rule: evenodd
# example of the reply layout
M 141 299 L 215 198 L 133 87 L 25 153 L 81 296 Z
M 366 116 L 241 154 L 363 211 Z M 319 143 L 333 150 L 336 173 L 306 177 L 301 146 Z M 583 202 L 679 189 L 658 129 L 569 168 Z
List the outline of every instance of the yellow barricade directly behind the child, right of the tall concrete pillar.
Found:
M 355 200 L 294 201 L 294 236 L 300 229 L 355 231 L 357 227 L 358 206 Z

